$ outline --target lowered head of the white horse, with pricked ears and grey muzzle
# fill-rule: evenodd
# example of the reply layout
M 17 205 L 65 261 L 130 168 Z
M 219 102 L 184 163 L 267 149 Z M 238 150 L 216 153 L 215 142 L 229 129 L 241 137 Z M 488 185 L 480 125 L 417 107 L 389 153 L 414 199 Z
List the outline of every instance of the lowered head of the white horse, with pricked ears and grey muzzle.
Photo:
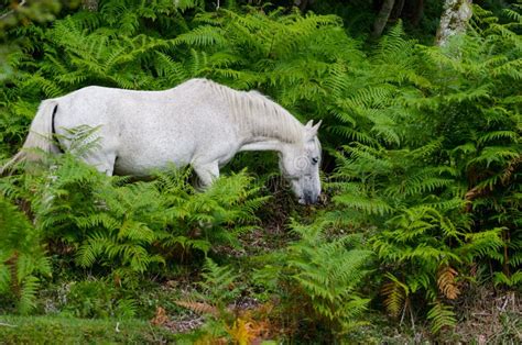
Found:
M 302 142 L 285 144 L 281 149 L 280 167 L 300 203 L 316 203 L 320 194 L 320 143 L 317 131 L 320 121 L 305 126 Z

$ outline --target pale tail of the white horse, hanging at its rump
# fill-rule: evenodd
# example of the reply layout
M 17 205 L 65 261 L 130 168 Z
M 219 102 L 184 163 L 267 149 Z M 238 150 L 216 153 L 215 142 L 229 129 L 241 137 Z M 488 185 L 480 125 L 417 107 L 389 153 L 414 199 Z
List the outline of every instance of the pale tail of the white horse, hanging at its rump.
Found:
M 57 101 L 53 99 L 45 100 L 40 104 L 22 149 L 0 168 L 0 176 L 11 170 L 18 163 L 42 160 L 42 154 L 56 151 L 53 144 L 53 118 L 57 105 Z

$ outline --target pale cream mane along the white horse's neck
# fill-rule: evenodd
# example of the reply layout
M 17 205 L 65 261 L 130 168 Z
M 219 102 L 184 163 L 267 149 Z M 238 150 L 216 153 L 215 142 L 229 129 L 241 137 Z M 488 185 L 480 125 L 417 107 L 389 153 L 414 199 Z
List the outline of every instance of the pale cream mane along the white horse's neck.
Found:
M 286 109 L 258 91 L 238 91 L 208 79 L 195 79 L 225 100 L 240 130 L 255 136 L 274 137 L 286 143 L 303 141 L 304 125 Z

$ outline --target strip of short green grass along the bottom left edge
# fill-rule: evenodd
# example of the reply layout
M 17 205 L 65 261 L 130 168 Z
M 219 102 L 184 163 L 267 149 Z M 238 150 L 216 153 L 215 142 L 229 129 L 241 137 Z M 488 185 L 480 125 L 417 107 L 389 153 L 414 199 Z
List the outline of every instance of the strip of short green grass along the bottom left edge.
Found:
M 0 315 L 0 344 L 163 344 L 174 341 L 168 331 L 138 320 Z

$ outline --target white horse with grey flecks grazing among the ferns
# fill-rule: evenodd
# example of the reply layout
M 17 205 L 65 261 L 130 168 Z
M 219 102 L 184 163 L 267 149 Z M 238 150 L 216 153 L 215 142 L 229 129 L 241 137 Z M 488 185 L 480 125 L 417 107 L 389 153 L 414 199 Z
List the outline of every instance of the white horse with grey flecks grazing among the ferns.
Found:
M 301 203 L 315 203 L 320 193 L 320 122 L 303 125 L 257 91 L 236 91 L 206 79 L 164 91 L 93 86 L 44 100 L 24 149 L 8 165 L 31 159 L 28 148 L 68 149 L 61 138 L 79 125 L 99 127 L 99 145 L 81 159 L 107 175 L 148 176 L 170 164 L 191 165 L 208 186 L 236 153 L 276 151 Z

